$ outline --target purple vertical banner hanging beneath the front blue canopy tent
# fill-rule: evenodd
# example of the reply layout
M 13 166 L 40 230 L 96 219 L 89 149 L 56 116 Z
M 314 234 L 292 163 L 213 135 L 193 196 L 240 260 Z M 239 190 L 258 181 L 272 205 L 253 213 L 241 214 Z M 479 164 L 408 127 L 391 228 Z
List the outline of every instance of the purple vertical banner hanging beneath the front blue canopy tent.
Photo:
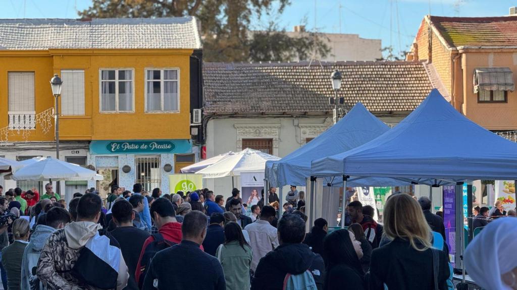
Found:
M 445 242 L 449 246 L 449 258 L 452 267 L 455 267 L 454 256 L 456 254 L 456 210 L 455 210 L 455 185 L 445 185 L 444 194 L 444 225 Z

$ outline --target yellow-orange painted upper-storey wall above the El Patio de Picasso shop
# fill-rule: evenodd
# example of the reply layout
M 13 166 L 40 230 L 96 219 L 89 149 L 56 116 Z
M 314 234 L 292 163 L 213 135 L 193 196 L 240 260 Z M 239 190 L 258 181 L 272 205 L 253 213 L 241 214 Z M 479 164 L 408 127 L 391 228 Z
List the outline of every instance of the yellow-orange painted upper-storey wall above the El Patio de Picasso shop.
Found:
M 32 53 L 34 54 L 34 53 Z M 36 114 L 54 105 L 49 80 L 62 69 L 84 70 L 85 115 L 61 116 L 61 140 L 190 139 L 190 73 L 192 50 L 50 50 L 0 52 L 0 128 L 7 126 L 7 72 L 34 71 Z M 99 69 L 133 69 L 134 112 L 101 113 Z M 179 69 L 179 112 L 145 113 L 145 69 Z M 28 141 L 54 140 L 54 128 L 44 135 L 38 130 Z M 16 134 L 10 141 L 22 141 Z

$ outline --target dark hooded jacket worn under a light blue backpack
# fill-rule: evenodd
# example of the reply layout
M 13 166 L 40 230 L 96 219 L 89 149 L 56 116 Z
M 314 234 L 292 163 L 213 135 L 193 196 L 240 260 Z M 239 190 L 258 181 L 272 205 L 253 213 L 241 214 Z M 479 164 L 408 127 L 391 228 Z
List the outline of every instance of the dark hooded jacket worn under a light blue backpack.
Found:
M 324 263 L 305 244 L 282 244 L 264 256 L 255 270 L 252 290 L 281 290 L 287 273 L 298 275 L 309 270 L 318 289 L 323 288 Z

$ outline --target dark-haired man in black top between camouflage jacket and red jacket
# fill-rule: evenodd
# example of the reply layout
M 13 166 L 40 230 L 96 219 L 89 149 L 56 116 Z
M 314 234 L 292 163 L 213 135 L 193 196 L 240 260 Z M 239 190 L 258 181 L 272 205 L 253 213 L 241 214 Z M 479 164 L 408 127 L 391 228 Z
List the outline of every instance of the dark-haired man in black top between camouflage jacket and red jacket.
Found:
M 135 271 L 140 258 L 140 253 L 144 247 L 145 240 L 149 233 L 133 227 L 132 219 L 135 214 L 133 206 L 127 200 L 119 200 L 111 208 L 112 221 L 116 228 L 111 231 L 111 235 L 118 241 L 122 256 L 127 263 L 129 270 L 129 280 L 126 289 L 138 290 L 136 284 Z

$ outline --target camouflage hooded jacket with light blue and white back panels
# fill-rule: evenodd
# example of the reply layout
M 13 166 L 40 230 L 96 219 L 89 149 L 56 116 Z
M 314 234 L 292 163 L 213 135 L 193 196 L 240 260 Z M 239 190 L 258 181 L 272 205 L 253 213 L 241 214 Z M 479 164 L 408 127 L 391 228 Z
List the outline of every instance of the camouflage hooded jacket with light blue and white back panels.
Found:
M 37 275 L 47 289 L 97 289 L 82 283 L 72 276 L 71 270 L 77 263 L 81 250 L 87 248 L 98 259 L 117 271 L 116 289 L 127 285 L 129 273 L 120 249 L 110 245 L 109 238 L 100 236 L 100 225 L 90 221 L 72 222 L 66 228 L 55 231 L 49 236 L 41 250 Z M 99 245 L 96 247 L 96 245 Z M 99 269 L 92 269 L 98 271 Z M 94 273 L 95 275 L 95 273 Z M 99 279 L 104 273 L 98 273 Z

